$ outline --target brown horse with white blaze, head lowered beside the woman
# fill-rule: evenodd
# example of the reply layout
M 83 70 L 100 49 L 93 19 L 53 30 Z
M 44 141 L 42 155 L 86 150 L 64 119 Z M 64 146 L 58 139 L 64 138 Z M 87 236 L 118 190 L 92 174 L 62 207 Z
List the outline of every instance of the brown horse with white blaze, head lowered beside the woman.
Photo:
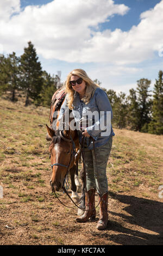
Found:
M 60 93 L 60 90 L 59 90 Z M 57 93 L 55 93 L 57 94 Z M 55 99 L 54 95 L 52 99 Z M 60 130 L 60 126 L 57 126 L 57 130 L 53 130 L 53 113 L 51 106 L 51 126 L 47 126 L 48 140 L 51 141 L 49 145 L 49 152 L 51 154 L 51 165 L 52 165 L 52 178 L 50 181 L 52 191 L 61 190 L 64 185 L 67 172 L 70 172 L 71 178 L 71 198 L 74 202 L 79 202 L 79 196 L 77 191 L 81 187 L 76 170 L 78 168 L 79 154 L 75 157 L 76 152 L 79 149 L 79 138 L 77 130 L 72 130 L 69 126 L 73 117 L 69 118 L 68 130 Z M 54 109 L 55 110 L 55 109 Z M 59 114 L 60 107 L 57 109 Z M 69 110 L 68 110 L 69 111 Z M 54 112 L 54 111 L 53 111 Z M 71 112 L 69 112 L 70 114 Z M 76 150 L 75 150 L 76 149 Z M 80 176 L 83 177 L 83 171 L 80 171 Z M 84 177 L 83 177 L 84 178 Z M 84 179 L 82 179 L 82 197 L 84 197 Z M 84 208 L 84 200 L 80 204 L 81 208 Z M 78 215 L 82 214 L 82 211 L 78 211 Z

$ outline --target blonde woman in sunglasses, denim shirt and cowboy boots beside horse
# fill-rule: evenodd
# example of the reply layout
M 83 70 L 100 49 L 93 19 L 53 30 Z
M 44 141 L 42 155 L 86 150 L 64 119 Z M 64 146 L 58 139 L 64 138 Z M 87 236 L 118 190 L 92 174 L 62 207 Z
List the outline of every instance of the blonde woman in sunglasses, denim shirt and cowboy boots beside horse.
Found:
M 65 87 L 66 98 L 60 109 L 59 120 L 68 106 L 69 109 L 72 109 L 78 130 L 81 131 L 80 124 L 86 120 L 86 117 L 88 123 L 83 132 L 78 132 L 80 142 L 85 136 L 87 193 L 85 196 L 86 211 L 76 220 L 77 222 L 86 222 L 89 218 L 95 218 L 95 191 L 97 191 L 101 198 L 97 229 L 102 230 L 107 227 L 108 223 L 106 165 L 111 151 L 112 136 L 115 135 L 108 115 L 111 113 L 112 118 L 112 109 L 104 90 L 95 84 L 82 69 L 74 69 L 68 74 Z

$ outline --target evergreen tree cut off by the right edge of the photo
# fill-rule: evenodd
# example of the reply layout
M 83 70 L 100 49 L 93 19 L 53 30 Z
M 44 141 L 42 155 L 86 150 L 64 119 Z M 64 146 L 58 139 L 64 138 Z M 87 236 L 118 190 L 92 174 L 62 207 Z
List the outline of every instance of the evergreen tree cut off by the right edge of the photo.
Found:
M 152 121 L 149 123 L 148 132 L 163 134 L 163 72 L 159 71 L 158 80 L 155 81 L 153 90 Z

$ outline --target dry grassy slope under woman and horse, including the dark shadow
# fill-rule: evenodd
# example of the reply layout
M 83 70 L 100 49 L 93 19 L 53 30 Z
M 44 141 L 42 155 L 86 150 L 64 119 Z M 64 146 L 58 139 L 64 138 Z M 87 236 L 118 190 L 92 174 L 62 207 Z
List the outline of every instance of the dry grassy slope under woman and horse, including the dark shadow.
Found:
M 51 192 L 48 109 L 1 105 L 1 245 L 163 245 L 163 136 L 114 129 L 107 168 L 109 222 L 99 231 L 99 207 L 96 221 L 77 223 L 77 209 L 65 208 Z

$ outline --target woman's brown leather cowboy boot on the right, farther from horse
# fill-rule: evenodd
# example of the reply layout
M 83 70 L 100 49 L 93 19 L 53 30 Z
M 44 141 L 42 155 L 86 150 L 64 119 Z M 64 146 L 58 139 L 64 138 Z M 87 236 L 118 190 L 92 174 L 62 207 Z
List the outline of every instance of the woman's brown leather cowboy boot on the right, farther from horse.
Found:
M 103 230 L 107 227 L 107 224 L 108 224 L 108 192 L 103 194 L 99 205 L 100 205 L 100 209 L 99 209 L 100 217 L 97 224 L 97 229 Z

